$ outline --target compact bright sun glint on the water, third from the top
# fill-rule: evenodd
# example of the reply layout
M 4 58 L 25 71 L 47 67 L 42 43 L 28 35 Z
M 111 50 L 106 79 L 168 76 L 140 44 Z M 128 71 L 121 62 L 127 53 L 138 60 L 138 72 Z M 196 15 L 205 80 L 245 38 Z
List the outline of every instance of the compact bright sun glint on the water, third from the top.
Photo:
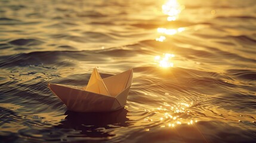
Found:
M 159 64 L 160 67 L 173 67 L 174 64 L 171 63 L 171 58 L 175 57 L 174 54 L 164 53 L 163 56 L 157 55 L 155 57 L 155 62 Z

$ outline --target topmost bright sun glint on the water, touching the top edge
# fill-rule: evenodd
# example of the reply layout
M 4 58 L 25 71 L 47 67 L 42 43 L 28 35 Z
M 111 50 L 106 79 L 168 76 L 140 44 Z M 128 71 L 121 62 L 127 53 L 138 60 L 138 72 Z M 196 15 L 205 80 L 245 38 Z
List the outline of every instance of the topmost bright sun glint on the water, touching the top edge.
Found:
M 168 21 L 174 21 L 177 19 L 178 14 L 184 10 L 185 6 L 180 5 L 177 0 L 169 0 L 164 5 L 162 5 L 162 12 L 168 15 Z

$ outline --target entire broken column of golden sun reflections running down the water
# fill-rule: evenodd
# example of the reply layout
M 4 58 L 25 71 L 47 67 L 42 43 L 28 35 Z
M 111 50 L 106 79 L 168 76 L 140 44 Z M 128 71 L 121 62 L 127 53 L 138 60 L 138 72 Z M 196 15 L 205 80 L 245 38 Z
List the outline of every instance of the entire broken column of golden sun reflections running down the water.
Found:
M 167 21 L 175 21 L 178 19 L 178 15 L 185 8 L 184 5 L 178 3 L 178 0 L 168 0 L 164 5 L 162 5 L 162 13 L 167 15 Z M 171 26 L 172 22 L 169 22 Z M 184 32 L 185 27 L 177 27 L 175 29 L 169 29 L 168 27 L 158 27 L 157 33 L 158 37 L 155 39 L 158 42 L 164 42 L 167 38 L 171 38 L 170 35 L 176 35 L 177 33 Z M 168 44 L 168 42 L 165 42 Z M 174 54 L 164 53 L 163 55 L 156 55 L 154 57 L 155 63 L 159 67 L 168 68 L 173 67 L 172 58 Z M 169 95 L 169 93 L 165 93 Z M 198 122 L 198 120 L 192 120 L 192 113 L 190 107 L 192 104 L 186 102 L 179 102 L 175 105 L 170 105 L 166 102 L 160 107 L 154 108 L 153 110 L 146 110 L 148 113 L 153 113 L 152 116 L 146 117 L 143 121 L 144 123 L 153 122 L 159 125 L 160 128 L 175 128 L 178 125 L 193 125 Z M 149 129 L 147 129 L 149 131 Z

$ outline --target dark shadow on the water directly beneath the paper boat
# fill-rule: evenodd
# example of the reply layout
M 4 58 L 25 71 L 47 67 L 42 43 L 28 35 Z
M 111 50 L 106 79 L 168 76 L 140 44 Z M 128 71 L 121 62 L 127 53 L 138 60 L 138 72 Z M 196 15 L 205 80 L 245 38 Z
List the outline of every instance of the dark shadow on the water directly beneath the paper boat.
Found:
M 79 113 L 67 110 L 67 116 L 55 128 L 80 130 L 80 135 L 92 138 L 115 136 L 107 129 L 131 125 L 127 113 L 125 108 L 106 113 Z

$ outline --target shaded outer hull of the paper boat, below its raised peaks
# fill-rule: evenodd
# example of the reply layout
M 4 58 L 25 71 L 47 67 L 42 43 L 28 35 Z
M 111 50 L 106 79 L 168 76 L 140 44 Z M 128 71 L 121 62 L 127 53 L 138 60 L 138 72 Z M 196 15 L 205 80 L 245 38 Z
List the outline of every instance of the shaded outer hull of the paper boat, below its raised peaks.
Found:
M 126 88 L 116 97 L 95 94 L 85 91 L 80 86 L 68 86 L 49 83 L 51 91 L 66 104 L 71 111 L 78 112 L 104 112 L 123 108 L 127 101 L 129 88 Z

